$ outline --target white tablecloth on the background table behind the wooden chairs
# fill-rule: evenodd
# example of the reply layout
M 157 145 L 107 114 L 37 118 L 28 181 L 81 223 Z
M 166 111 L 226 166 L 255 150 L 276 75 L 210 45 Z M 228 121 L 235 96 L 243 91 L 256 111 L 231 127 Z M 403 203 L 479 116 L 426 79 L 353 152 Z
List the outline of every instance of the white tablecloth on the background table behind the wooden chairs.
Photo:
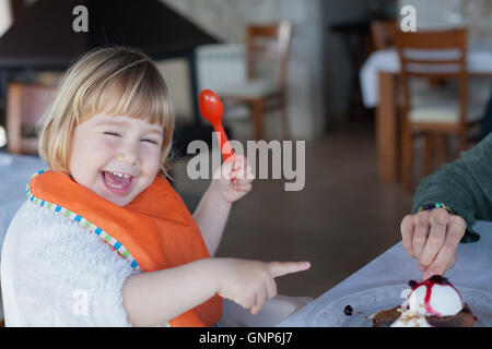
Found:
M 492 74 L 492 52 L 472 50 L 467 57 L 468 72 L 473 74 Z M 362 100 L 364 106 L 373 108 L 378 103 L 378 73 L 379 71 L 398 73 L 400 61 L 395 49 L 373 52 L 360 71 Z

